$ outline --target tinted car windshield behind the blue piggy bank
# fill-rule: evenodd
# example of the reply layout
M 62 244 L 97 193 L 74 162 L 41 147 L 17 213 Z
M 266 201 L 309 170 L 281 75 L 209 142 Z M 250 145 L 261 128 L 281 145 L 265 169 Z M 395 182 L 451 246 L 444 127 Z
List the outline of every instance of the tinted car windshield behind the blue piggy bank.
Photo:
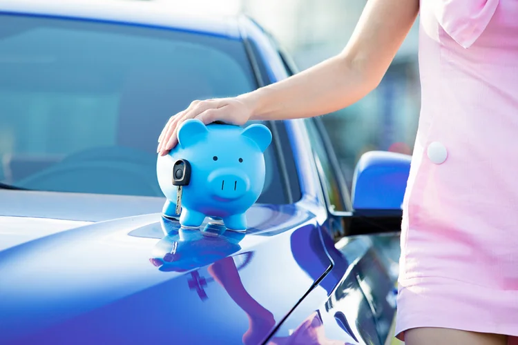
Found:
M 242 41 L 181 30 L 0 15 L 0 182 L 163 197 L 157 137 L 194 99 L 257 87 Z M 275 145 L 259 199 L 285 203 Z

